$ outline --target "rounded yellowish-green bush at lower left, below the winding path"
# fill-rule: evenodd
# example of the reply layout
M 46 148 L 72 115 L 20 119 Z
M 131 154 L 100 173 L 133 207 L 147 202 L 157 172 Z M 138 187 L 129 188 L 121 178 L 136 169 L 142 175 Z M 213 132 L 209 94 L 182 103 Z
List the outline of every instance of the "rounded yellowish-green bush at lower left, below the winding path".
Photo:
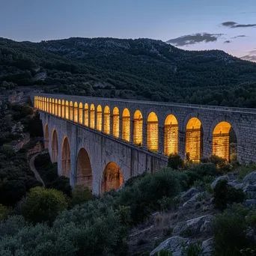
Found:
M 67 201 L 62 192 L 39 186 L 31 189 L 21 204 L 22 216 L 34 223 L 52 223 L 58 213 L 66 209 Z

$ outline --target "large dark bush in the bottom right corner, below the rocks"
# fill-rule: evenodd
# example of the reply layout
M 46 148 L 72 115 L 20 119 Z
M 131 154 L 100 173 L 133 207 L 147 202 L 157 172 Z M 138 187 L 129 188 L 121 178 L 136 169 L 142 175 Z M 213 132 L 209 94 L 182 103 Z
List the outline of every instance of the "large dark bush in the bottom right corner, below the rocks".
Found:
M 213 219 L 214 255 L 241 255 L 240 250 L 252 246 L 253 241 L 246 236 L 249 210 L 234 204 Z

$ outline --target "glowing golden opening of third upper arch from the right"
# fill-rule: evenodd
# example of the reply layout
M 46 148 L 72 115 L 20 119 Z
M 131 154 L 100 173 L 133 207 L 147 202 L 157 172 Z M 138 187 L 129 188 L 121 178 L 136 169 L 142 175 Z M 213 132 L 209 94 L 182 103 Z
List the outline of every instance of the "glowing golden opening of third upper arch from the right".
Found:
M 178 124 L 174 115 L 165 119 L 165 155 L 178 153 Z

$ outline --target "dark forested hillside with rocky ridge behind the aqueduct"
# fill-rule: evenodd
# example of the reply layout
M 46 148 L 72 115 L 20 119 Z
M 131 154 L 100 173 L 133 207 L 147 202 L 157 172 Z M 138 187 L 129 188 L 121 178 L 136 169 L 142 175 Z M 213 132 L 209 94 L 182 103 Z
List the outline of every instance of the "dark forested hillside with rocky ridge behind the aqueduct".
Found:
M 254 108 L 255 78 L 255 63 L 159 40 L 0 38 L 2 90 L 5 81 L 64 94 Z

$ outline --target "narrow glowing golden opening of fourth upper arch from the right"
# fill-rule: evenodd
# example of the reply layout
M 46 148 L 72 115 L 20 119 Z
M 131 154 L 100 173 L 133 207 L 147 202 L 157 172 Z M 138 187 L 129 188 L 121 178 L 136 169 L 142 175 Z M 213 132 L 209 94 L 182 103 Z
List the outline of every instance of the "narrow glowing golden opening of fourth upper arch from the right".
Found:
M 147 148 L 158 151 L 158 118 L 154 112 L 147 117 Z

